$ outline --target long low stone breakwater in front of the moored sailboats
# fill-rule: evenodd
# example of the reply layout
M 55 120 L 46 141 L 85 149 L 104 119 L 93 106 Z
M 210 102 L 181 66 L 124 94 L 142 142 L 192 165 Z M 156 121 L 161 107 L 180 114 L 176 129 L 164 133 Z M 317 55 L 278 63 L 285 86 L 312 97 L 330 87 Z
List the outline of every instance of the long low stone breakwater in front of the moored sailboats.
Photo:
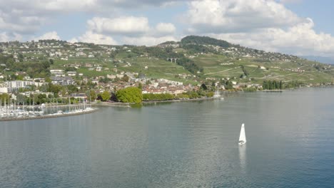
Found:
M 4 117 L 4 118 L 0 118 L 0 121 L 39 120 L 39 119 L 49 119 L 49 118 L 57 118 L 57 117 L 67 117 L 67 116 L 95 113 L 97 110 L 98 110 L 98 108 L 93 108 L 92 110 L 79 112 L 79 113 L 66 113 L 66 114 L 57 114 L 57 115 L 41 115 L 41 116 L 37 116 L 37 117 Z

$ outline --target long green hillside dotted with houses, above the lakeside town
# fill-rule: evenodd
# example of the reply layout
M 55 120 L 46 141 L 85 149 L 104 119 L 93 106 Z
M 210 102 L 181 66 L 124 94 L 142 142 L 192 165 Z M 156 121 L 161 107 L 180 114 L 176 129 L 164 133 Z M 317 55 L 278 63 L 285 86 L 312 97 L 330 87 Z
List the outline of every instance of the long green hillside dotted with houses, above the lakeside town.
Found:
M 49 70 L 75 72 L 75 80 L 114 78 L 131 73 L 140 78 L 166 78 L 183 83 L 235 80 L 237 83 L 321 84 L 333 82 L 333 68 L 282 53 L 270 53 L 206 36 L 186 36 L 158 46 L 107 46 L 66 41 L 0 43 L 0 75 L 21 72 L 48 78 Z M 20 75 L 20 73 L 19 73 Z M 112 76 L 114 75 L 114 76 Z

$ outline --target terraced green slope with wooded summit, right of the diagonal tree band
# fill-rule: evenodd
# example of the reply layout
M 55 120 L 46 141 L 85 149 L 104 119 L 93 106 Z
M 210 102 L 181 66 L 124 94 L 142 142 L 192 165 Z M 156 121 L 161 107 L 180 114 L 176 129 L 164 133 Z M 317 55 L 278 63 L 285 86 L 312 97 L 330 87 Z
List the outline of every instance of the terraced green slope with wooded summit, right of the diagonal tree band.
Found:
M 206 79 L 234 78 L 245 83 L 262 83 L 263 80 L 300 83 L 333 81 L 333 70 L 329 64 L 259 51 L 206 36 L 187 36 L 174 51 L 187 54 L 198 67 L 203 68 L 198 75 Z

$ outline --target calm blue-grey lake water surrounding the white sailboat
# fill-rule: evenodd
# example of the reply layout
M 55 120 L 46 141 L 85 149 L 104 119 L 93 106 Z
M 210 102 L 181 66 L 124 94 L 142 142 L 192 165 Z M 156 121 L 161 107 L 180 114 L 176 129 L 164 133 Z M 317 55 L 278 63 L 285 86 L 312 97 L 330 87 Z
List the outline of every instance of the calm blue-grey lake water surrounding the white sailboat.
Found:
M 333 187 L 333 95 L 231 93 L 0 122 L 0 187 Z

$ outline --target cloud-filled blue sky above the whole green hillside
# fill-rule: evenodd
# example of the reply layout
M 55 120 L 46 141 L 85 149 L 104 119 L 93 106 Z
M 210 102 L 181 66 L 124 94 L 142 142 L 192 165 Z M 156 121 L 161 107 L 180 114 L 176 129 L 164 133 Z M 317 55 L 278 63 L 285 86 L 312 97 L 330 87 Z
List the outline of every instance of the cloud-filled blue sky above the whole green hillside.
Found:
M 334 57 L 333 7 L 330 0 L 0 0 L 0 41 L 153 46 L 192 34 Z

